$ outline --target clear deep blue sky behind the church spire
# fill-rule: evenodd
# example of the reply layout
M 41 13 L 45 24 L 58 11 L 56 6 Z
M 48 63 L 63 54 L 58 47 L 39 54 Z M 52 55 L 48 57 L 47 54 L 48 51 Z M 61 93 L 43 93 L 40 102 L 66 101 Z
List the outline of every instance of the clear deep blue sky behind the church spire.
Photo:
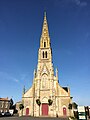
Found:
M 90 0 L 0 0 L 0 97 L 17 102 L 31 87 L 44 11 L 59 84 L 90 105 Z

